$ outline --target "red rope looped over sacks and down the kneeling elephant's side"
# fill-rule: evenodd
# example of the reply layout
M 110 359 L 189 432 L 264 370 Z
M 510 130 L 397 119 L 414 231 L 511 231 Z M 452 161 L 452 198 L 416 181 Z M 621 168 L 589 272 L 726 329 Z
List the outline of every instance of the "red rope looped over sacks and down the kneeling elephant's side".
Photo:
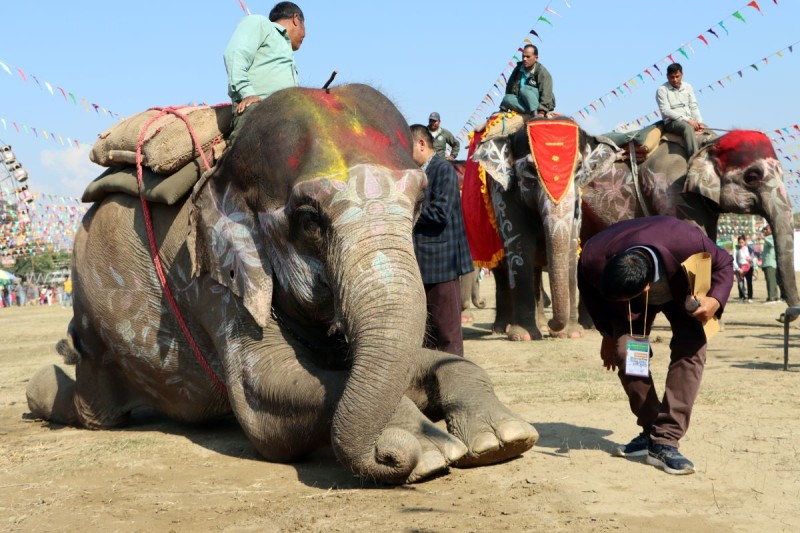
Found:
M 183 319 L 183 315 L 181 314 L 180 309 L 178 309 L 178 302 L 175 301 L 175 297 L 172 295 L 172 291 L 169 288 L 169 284 L 167 283 L 167 278 L 164 275 L 164 268 L 161 265 L 161 259 L 158 256 L 158 248 L 156 247 L 156 236 L 153 230 L 153 221 L 150 218 L 150 207 L 147 205 L 147 200 L 144 199 L 144 181 L 142 180 L 142 145 L 144 144 L 144 136 L 147 133 L 147 128 L 155 122 L 157 119 L 161 118 L 166 114 L 172 114 L 181 119 L 186 127 L 189 129 L 189 134 L 192 136 L 192 142 L 197 147 L 198 151 L 200 152 L 200 157 L 203 160 L 203 166 L 206 170 L 211 168 L 211 165 L 208 162 L 208 158 L 206 158 L 206 154 L 203 152 L 203 147 L 197 141 L 197 135 L 194 133 L 194 128 L 189 123 L 189 120 L 186 118 L 185 115 L 177 111 L 176 107 L 154 107 L 151 111 L 160 111 L 156 116 L 151 118 L 147 121 L 147 123 L 142 127 L 142 132 L 139 134 L 139 140 L 136 143 L 136 178 L 139 182 L 139 199 L 142 202 L 142 212 L 144 214 L 144 224 L 147 228 L 147 238 L 150 241 L 150 255 L 153 258 L 153 265 L 156 268 L 156 274 L 158 275 L 158 280 L 161 282 L 161 288 L 164 290 L 164 294 L 167 297 L 167 301 L 169 302 L 169 306 L 172 309 L 173 314 L 175 315 L 176 320 L 178 321 L 178 325 L 183 332 L 183 336 L 186 337 L 186 340 L 189 342 L 189 346 L 191 346 L 192 351 L 194 352 L 195 359 L 197 362 L 200 363 L 200 366 L 203 367 L 208 377 L 211 378 L 211 381 L 214 382 L 214 385 L 222 392 L 226 397 L 228 396 L 228 388 L 225 386 L 225 383 L 219 379 L 219 376 L 214 372 L 214 369 L 211 368 L 211 365 L 208 364 L 205 356 L 203 356 L 202 352 L 200 351 L 200 347 L 197 346 L 197 343 L 194 341 L 194 337 L 192 337 L 191 332 L 189 331 L 189 326 L 186 325 L 186 321 Z

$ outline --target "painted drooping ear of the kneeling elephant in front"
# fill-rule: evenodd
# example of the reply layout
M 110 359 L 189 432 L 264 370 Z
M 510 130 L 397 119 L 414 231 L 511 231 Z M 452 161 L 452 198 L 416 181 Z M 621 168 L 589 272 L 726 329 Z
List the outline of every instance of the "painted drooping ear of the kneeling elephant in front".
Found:
M 218 172 L 197 183 L 189 214 L 192 275 L 207 272 L 244 301 L 262 328 L 272 308 L 272 267 L 243 194 Z

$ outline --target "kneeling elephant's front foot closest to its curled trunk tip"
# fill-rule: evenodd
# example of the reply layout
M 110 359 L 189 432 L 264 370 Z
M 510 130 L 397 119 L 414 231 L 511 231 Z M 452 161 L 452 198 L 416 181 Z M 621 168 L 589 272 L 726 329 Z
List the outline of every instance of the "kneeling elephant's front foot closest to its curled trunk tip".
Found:
M 398 438 L 398 434 L 402 434 L 403 438 Z M 399 443 L 408 441 L 409 436 L 416 440 L 418 446 L 413 446 L 414 450 L 407 450 L 411 453 L 406 455 L 416 455 L 417 464 L 404 480 L 405 483 L 416 483 L 444 472 L 467 453 L 467 447 L 460 440 L 436 426 L 404 396 L 378 439 L 376 457 L 394 455 L 392 450 Z

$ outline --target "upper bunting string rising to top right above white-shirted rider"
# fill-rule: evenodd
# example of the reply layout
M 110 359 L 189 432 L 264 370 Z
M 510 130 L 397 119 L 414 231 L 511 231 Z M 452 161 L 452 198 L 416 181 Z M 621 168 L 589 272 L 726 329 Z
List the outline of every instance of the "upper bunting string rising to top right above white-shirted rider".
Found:
M 777 5 L 778 0 L 773 0 L 773 3 Z M 617 85 L 614 89 L 611 89 L 610 91 L 606 92 L 603 96 L 592 100 L 589 104 L 578 109 L 577 112 L 573 113 L 573 116 L 571 118 L 573 118 L 573 120 L 586 119 L 586 117 L 591 115 L 592 113 L 598 113 L 601 109 L 605 109 L 607 105 L 614 103 L 629 94 L 632 94 L 633 91 L 638 89 L 640 85 L 645 85 L 646 83 L 658 81 L 656 79 L 656 75 L 658 75 L 659 77 L 661 77 L 662 75 L 661 68 L 659 68 L 658 66 L 659 63 L 663 65 L 670 65 L 676 62 L 676 58 L 688 60 L 690 53 L 691 54 L 697 53 L 695 47 L 705 48 L 711 46 L 710 41 L 713 42 L 713 40 L 720 39 L 722 31 L 725 32 L 725 36 L 730 35 L 730 31 L 726 26 L 726 23 L 730 24 L 732 19 L 736 19 L 737 21 L 743 24 L 747 24 L 747 20 L 743 13 L 747 13 L 748 11 L 750 11 L 750 9 L 758 11 L 758 13 L 762 16 L 764 15 L 763 11 L 761 11 L 761 6 L 758 5 L 758 2 L 756 0 L 748 2 L 741 8 L 737 9 L 727 17 L 720 20 L 715 25 L 709 27 L 704 32 L 701 32 L 697 37 L 683 43 L 677 49 L 673 50 L 671 53 L 667 54 L 658 61 L 653 62 L 653 64 L 650 67 L 642 70 L 638 74 L 629 78 L 627 81 L 624 81 L 621 84 Z M 712 39 L 712 36 L 714 37 L 714 39 Z M 694 44 L 694 46 L 692 46 L 692 44 Z

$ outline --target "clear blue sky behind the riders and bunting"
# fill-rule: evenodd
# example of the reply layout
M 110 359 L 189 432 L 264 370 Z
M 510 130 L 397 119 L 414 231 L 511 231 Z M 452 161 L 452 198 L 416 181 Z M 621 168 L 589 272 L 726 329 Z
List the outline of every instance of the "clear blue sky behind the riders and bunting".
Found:
M 262 14 L 274 4 L 245 3 Z M 655 91 L 665 81 L 661 60 L 673 54 L 696 91 L 715 84 L 713 92 L 698 95 L 708 125 L 791 129 L 800 123 L 800 2 L 757 3 L 763 15 L 746 0 L 308 0 L 298 2 L 307 37 L 296 58 L 304 86 L 321 86 L 335 69 L 336 84 L 378 87 L 410 123 L 425 123 L 438 111 L 444 127 L 458 134 L 530 37 L 553 75 L 556 110 L 573 115 L 595 102 L 599 112 L 580 122 L 590 133 L 602 133 L 656 109 Z M 746 22 L 732 18 L 735 11 Z M 237 0 L 5 0 L 0 61 L 12 74 L 0 70 L 0 118 L 6 121 L 5 127 L 0 123 L 0 139 L 28 169 L 30 188 L 75 197 L 100 174 L 85 147 L 64 147 L 41 133 L 92 143 L 116 119 L 91 104 L 124 117 L 152 106 L 227 101 L 222 51 L 242 16 Z M 540 16 L 550 24 L 537 21 Z M 531 29 L 540 38 L 529 34 Z M 701 34 L 708 46 L 697 38 Z M 686 43 L 688 59 L 677 52 Z M 793 43 L 798 44 L 789 53 Z M 781 50 L 782 58 L 774 55 Z M 653 71 L 654 63 L 662 74 Z M 637 75 L 644 69 L 656 81 L 645 75 L 642 82 Z M 632 93 L 604 98 L 605 109 L 597 105 L 599 97 L 631 78 L 637 82 Z M 720 79 L 726 88 L 716 85 Z M 73 93 L 78 104 L 65 102 L 58 87 Z M 491 110 L 484 106 L 479 115 Z M 17 133 L 12 122 L 37 128 L 39 137 L 30 129 Z M 800 154 L 800 136 L 787 141 L 777 146 Z M 797 161 L 783 163 L 786 169 L 800 168 Z M 800 187 L 790 181 L 790 192 L 800 194 Z

